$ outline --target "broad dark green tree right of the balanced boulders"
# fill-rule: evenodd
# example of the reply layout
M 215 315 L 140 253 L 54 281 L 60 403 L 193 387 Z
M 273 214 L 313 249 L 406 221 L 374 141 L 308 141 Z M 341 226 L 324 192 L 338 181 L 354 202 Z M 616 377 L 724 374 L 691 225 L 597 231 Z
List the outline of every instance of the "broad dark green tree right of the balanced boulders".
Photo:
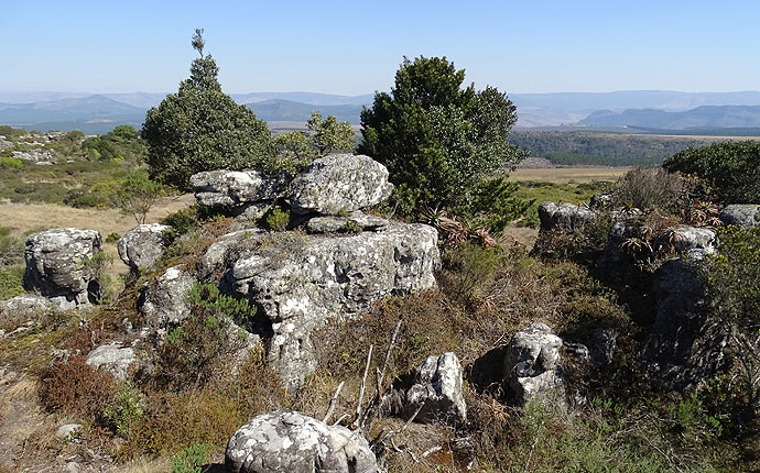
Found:
M 507 142 L 517 122 L 512 102 L 493 87 L 463 88 L 464 80 L 465 70 L 445 57 L 404 57 L 391 92 L 376 94 L 361 112 L 359 152 L 388 167 L 403 215 L 446 208 L 471 217 L 482 179 L 524 156 Z M 490 195 L 513 199 L 506 182 L 489 186 Z

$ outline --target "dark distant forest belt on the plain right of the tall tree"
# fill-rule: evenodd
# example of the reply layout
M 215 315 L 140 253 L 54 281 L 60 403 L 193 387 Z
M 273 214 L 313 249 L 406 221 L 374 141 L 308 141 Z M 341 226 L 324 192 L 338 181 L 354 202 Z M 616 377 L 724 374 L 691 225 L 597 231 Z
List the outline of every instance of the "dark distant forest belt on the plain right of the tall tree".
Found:
M 517 130 L 509 142 L 556 165 L 659 165 L 673 154 L 727 138 L 664 136 L 586 131 Z

